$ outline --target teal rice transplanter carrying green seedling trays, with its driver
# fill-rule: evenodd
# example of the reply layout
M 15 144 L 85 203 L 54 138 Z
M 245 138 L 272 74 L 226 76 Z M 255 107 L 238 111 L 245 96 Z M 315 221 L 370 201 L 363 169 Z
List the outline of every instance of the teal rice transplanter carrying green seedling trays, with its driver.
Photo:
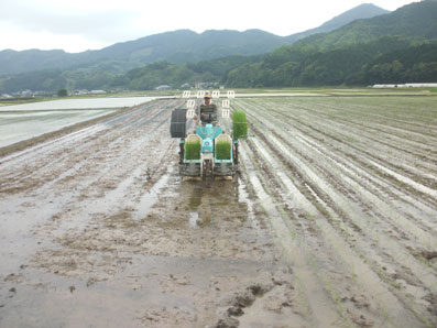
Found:
M 239 139 L 247 138 L 248 122 L 243 111 L 233 111 L 232 121 L 230 119 L 230 100 L 234 95 L 234 91 L 228 91 L 227 99 L 220 102 L 218 90 L 212 95 L 199 90 L 196 97 L 184 91 L 183 98 L 187 101 L 173 110 L 171 123 L 172 138 L 181 139 L 182 176 L 201 177 L 208 182 L 217 176 L 236 174 Z

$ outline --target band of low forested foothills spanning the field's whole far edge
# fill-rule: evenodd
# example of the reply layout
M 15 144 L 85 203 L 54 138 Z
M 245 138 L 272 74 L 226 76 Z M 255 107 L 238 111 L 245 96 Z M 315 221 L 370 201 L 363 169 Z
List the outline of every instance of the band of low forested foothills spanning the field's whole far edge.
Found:
M 301 43 L 262 56 L 228 56 L 188 64 L 157 62 L 125 74 L 89 68 L 43 70 L 0 78 L 0 91 L 150 90 L 159 85 L 179 88 L 196 81 L 234 88 L 436 83 L 437 42 L 383 36 L 328 50 Z

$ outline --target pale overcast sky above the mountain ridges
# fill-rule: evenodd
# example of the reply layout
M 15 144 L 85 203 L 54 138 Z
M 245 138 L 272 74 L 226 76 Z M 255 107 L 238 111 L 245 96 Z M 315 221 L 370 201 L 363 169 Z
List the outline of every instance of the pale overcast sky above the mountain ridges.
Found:
M 374 0 L 396 10 L 417 0 Z M 178 29 L 260 29 L 289 35 L 317 28 L 367 0 L 136 1 L 0 0 L 0 51 L 81 52 Z

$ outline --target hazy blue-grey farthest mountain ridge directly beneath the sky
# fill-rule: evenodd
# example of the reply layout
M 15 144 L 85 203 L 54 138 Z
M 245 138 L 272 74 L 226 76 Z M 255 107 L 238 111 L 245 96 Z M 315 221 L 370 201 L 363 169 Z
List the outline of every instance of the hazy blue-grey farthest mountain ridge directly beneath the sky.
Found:
M 289 36 L 277 36 L 261 30 L 244 32 L 209 30 L 195 33 L 178 30 L 117 43 L 99 51 L 77 54 L 64 51 L 29 50 L 0 52 L 0 75 L 37 69 L 89 68 L 92 72 L 125 73 L 150 63 L 195 63 L 231 55 L 259 55 L 314 33 L 328 32 L 354 19 L 383 14 L 386 11 L 373 4 L 359 6 L 326 22 L 317 29 Z

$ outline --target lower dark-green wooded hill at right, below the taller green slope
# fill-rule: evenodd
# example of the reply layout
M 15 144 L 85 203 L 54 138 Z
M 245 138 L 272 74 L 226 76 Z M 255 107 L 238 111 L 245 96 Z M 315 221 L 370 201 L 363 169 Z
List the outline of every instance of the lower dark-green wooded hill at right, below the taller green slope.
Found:
M 383 36 L 367 44 L 318 51 L 296 45 L 227 74 L 232 87 L 365 86 L 437 80 L 437 42 L 413 45 Z

